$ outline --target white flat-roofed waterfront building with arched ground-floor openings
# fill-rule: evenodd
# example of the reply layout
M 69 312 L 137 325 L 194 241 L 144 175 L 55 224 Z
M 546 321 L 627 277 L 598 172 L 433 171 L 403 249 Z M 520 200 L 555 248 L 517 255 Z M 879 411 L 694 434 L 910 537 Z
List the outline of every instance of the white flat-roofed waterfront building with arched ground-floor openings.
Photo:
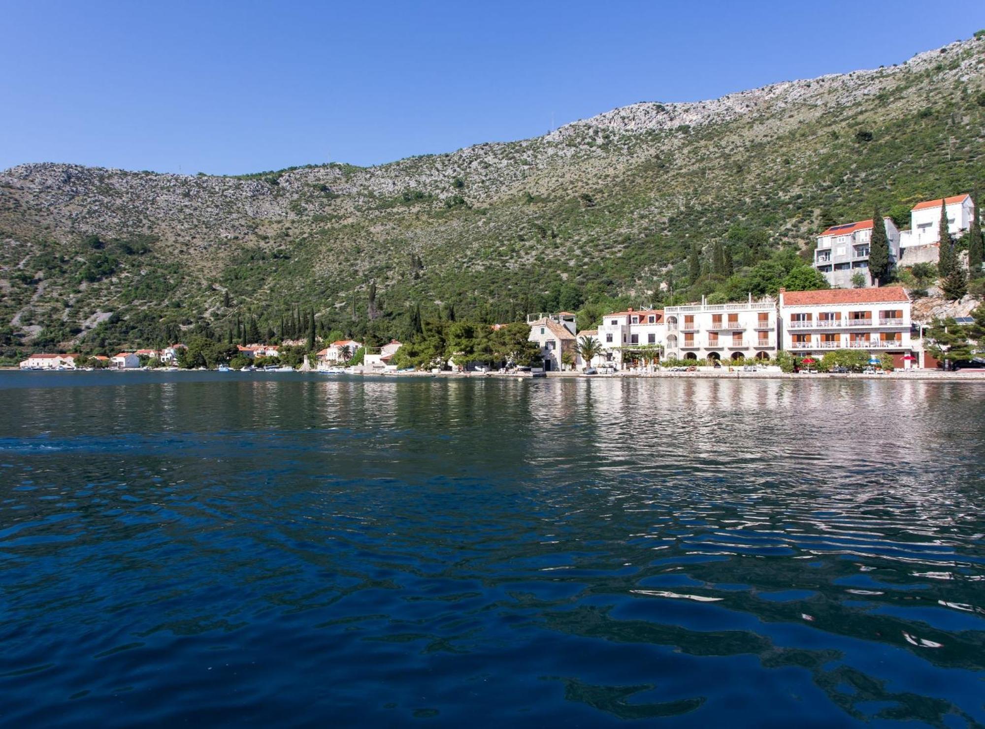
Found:
M 776 356 L 776 302 L 691 303 L 664 308 L 665 356 L 674 360 L 769 360 Z

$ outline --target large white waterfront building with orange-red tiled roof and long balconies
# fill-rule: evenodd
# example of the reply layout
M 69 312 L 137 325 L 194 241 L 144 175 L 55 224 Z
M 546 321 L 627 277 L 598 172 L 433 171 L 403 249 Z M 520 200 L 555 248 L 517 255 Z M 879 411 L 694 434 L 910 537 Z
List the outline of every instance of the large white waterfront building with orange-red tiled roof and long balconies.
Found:
M 911 365 L 910 299 L 902 287 L 785 292 L 780 289 L 783 349 L 821 358 L 830 350 L 889 353 L 893 365 Z

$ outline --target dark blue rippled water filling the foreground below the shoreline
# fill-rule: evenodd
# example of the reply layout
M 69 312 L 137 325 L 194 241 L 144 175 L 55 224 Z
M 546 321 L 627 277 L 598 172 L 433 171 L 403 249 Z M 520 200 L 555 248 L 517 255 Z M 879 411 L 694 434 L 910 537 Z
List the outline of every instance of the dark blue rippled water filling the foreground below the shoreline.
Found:
M 985 722 L 982 385 L 11 373 L 0 413 L 12 725 Z

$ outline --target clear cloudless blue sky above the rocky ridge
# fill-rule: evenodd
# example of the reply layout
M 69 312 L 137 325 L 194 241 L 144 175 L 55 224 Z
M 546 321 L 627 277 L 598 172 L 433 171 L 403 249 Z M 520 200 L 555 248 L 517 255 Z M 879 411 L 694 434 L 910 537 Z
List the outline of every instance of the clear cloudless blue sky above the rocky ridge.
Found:
M 0 0 L 0 27 L 0 168 L 234 174 L 899 63 L 985 2 Z

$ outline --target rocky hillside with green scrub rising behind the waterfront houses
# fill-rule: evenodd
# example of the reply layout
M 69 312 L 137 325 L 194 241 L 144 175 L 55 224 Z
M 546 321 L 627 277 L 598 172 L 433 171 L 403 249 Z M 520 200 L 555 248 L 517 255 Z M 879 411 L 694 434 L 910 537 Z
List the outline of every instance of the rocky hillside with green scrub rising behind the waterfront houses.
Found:
M 409 307 L 490 320 L 735 291 L 826 224 L 908 224 L 985 182 L 985 36 L 870 71 L 694 103 L 637 103 L 544 137 L 388 165 L 184 176 L 0 172 L 0 349 L 151 344 L 236 316 L 399 334 Z M 379 317 L 367 321 L 370 283 Z M 367 331 L 368 330 L 368 331 Z

